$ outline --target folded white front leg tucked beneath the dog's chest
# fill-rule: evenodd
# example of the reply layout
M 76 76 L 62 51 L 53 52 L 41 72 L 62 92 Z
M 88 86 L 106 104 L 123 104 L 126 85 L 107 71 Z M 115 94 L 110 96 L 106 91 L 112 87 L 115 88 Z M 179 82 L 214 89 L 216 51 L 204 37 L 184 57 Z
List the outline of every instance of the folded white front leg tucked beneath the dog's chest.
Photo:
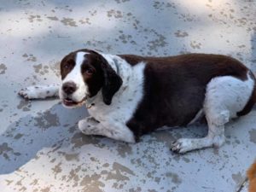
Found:
M 101 135 L 126 143 L 135 143 L 133 133 L 126 125 L 115 121 L 97 121 L 93 117 L 87 117 L 79 121 L 79 130 L 85 135 Z

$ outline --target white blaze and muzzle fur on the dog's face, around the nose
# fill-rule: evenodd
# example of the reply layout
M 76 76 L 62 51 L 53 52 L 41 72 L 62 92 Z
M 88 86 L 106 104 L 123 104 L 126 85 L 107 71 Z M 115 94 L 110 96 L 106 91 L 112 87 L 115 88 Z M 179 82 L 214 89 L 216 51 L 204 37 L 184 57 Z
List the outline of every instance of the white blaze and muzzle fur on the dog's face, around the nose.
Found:
M 84 99 L 84 96 L 88 95 L 88 87 L 86 84 L 84 84 L 84 79 L 81 73 L 81 65 L 85 60 L 84 55 L 86 54 L 88 53 L 85 53 L 85 52 L 77 53 L 75 66 L 73 67 L 73 70 L 67 74 L 65 79 L 62 80 L 62 84 L 65 84 L 67 82 L 73 82 L 74 84 L 76 84 L 78 89 L 71 96 L 71 99 L 74 102 L 82 102 L 82 100 Z M 59 95 L 61 100 L 65 97 L 65 92 L 62 90 L 62 85 L 59 90 Z

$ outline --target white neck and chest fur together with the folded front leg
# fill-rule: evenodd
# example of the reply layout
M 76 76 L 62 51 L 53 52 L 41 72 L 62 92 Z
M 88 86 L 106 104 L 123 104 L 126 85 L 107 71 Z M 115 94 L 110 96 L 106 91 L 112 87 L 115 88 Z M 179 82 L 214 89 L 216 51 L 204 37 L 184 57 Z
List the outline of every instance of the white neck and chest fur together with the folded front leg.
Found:
M 113 70 L 123 80 L 120 89 L 113 96 L 111 105 L 102 101 L 102 92 L 92 98 L 95 105 L 88 112 L 100 121 L 96 126 L 88 129 L 86 119 L 79 121 L 79 130 L 84 134 L 96 134 L 111 137 L 116 140 L 134 143 L 135 138 L 125 123 L 131 118 L 138 103 L 143 97 L 143 71 L 145 63 L 131 67 L 125 60 L 117 55 L 103 55 Z M 91 128 L 94 127 L 94 128 Z

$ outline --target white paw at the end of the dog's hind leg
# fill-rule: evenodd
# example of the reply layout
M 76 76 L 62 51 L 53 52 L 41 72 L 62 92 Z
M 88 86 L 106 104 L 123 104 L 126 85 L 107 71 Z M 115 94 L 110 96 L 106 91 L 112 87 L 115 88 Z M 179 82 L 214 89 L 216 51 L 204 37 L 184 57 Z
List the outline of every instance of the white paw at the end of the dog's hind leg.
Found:
M 193 150 L 191 139 L 180 138 L 172 143 L 171 150 L 178 154 L 184 154 L 190 150 Z

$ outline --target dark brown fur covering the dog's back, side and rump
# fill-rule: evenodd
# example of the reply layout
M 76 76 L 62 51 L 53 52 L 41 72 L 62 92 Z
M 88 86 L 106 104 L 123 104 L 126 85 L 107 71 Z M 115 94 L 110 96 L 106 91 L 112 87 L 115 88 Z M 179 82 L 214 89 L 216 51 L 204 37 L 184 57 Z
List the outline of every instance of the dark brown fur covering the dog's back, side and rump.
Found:
M 202 108 L 211 79 L 220 76 L 247 79 L 247 67 L 225 55 L 119 56 L 131 66 L 140 61 L 146 63 L 143 101 L 126 124 L 137 138 L 163 125 L 188 125 Z M 238 112 L 239 116 L 253 108 L 254 97 Z

